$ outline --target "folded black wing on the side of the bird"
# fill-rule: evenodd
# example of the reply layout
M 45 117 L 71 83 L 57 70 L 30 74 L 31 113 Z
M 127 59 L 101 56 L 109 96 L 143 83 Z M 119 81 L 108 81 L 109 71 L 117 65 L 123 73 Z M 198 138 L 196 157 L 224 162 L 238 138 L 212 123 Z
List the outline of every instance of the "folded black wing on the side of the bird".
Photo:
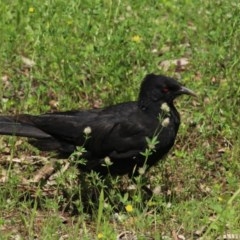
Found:
M 138 111 L 134 103 L 128 103 L 107 109 L 31 116 L 30 120 L 58 141 L 73 146 L 85 144 L 94 157 L 128 158 L 144 148 L 148 135 L 146 123 L 140 119 Z M 87 143 L 86 127 L 91 128 Z

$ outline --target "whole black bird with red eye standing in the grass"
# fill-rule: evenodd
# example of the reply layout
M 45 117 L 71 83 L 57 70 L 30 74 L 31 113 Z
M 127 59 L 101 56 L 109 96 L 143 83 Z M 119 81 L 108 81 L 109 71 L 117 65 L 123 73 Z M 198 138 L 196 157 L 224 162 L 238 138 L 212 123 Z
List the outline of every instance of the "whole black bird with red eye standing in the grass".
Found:
M 195 96 L 173 78 L 147 75 L 137 101 L 103 109 L 0 116 L 0 134 L 27 137 L 42 151 L 70 156 L 84 144 L 83 171 L 100 175 L 132 175 L 140 167 L 150 168 L 172 148 L 180 116 L 173 100 L 182 94 Z M 89 138 L 86 141 L 86 133 Z M 152 143 L 150 139 L 155 138 Z M 142 153 L 151 150 L 149 156 Z M 106 167 L 106 159 L 112 165 Z M 104 166 L 105 165 L 105 166 Z

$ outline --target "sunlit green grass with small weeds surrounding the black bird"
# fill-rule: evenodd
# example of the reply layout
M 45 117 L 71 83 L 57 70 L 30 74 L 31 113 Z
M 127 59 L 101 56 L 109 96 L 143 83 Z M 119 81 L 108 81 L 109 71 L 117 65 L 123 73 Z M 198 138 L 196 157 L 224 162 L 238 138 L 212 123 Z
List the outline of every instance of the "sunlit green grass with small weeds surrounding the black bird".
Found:
M 128 179 L 83 176 L 86 186 L 99 185 L 94 199 L 67 161 L 52 163 L 53 180 L 23 184 L 52 158 L 24 139 L 1 137 L 1 239 L 240 234 L 238 1 L 2 0 L 0 9 L 3 114 L 133 100 L 150 72 L 180 78 L 199 95 L 176 102 L 182 124 L 175 147 L 139 180 L 157 192 L 148 201 L 126 187 Z M 183 58 L 187 66 L 163 68 Z

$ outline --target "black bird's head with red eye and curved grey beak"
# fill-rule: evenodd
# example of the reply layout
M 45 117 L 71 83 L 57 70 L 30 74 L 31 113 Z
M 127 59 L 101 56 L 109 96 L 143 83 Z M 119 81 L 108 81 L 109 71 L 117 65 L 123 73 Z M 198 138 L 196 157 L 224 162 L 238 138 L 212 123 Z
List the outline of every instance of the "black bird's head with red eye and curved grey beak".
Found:
M 197 96 L 192 90 L 184 87 L 173 78 L 148 74 L 141 84 L 139 101 L 146 104 L 150 102 L 172 104 L 173 100 L 182 94 Z

